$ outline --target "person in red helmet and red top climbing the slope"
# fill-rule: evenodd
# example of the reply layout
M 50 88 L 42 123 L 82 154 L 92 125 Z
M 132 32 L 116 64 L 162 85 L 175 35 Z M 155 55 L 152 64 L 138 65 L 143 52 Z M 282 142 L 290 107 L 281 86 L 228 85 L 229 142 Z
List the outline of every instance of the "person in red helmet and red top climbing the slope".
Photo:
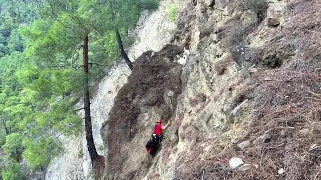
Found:
M 163 139 L 163 135 L 161 133 L 162 130 L 165 130 L 171 124 L 170 120 L 168 121 L 166 126 L 162 126 L 161 123 L 162 123 L 161 119 L 157 120 L 157 125 L 154 128 L 154 133 L 152 135 L 152 139 L 146 145 L 146 149 L 151 154 L 152 157 L 155 156 L 157 146 L 159 145 L 159 143 Z

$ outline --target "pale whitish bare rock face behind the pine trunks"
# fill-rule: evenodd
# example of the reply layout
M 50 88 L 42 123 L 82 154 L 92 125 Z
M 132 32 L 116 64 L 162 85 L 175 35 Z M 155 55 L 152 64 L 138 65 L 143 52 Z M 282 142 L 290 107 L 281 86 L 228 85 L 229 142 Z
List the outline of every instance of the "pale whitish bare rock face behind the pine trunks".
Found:
M 147 50 L 159 51 L 173 36 L 175 24 L 170 22 L 165 12 L 165 5 L 170 0 L 160 1 L 159 10 L 145 11 L 132 32 L 137 36 L 135 44 L 129 48 L 128 56 L 131 60 Z M 114 65 L 108 72 L 98 90 L 91 99 L 91 118 L 93 136 L 99 155 L 104 155 L 104 144 L 100 135 L 102 123 L 108 119 L 108 113 L 113 105 L 113 99 L 118 90 L 127 82 L 130 70 L 123 60 L 118 66 Z M 82 102 L 79 102 L 82 107 Z M 83 112 L 80 112 L 83 115 Z M 92 168 L 87 143 L 84 134 L 78 137 L 60 137 L 63 141 L 65 153 L 56 157 L 49 164 L 46 180 L 92 180 Z M 78 158 L 79 149 L 83 149 L 83 158 Z

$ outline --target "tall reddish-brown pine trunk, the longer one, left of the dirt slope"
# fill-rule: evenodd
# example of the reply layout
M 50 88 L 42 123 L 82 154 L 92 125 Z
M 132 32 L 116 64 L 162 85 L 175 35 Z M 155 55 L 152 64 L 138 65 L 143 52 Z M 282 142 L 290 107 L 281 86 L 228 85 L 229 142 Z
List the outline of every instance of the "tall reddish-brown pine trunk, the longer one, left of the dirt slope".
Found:
M 85 109 L 85 133 L 87 140 L 87 148 L 90 154 L 92 165 L 94 164 L 98 154 L 94 143 L 92 123 L 90 117 L 90 98 L 88 86 L 88 29 L 85 29 L 84 45 L 83 45 L 83 90 L 84 90 L 84 109 Z

